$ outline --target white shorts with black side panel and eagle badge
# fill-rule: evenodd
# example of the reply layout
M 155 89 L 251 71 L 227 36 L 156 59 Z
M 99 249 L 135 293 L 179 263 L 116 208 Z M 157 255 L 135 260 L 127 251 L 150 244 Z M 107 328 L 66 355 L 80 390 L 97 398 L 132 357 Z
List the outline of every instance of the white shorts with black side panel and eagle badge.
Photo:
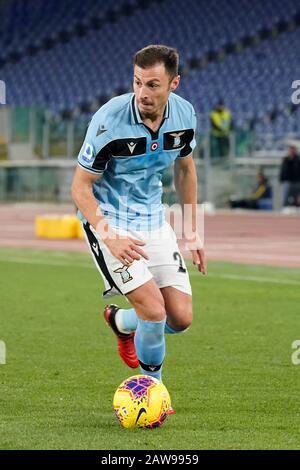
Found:
M 126 231 L 113 227 L 120 235 L 137 238 L 146 243 L 141 248 L 149 256 L 149 260 L 135 260 L 129 267 L 122 265 L 121 261 L 111 254 L 93 227 L 87 223 L 83 228 L 105 285 L 103 297 L 128 294 L 152 278 L 159 288 L 174 287 L 192 295 L 188 271 L 179 251 L 176 235 L 167 222 L 160 229 L 151 232 Z

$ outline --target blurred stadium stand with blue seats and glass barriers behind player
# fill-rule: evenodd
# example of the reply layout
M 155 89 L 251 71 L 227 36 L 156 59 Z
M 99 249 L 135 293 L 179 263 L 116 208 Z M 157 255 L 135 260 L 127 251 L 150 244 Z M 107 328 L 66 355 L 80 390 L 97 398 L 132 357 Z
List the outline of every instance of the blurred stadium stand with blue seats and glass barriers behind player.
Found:
M 223 182 L 233 163 L 251 177 L 267 165 L 275 181 L 283 139 L 300 135 L 300 109 L 291 103 L 300 79 L 298 0 L 6 0 L 0 15 L 0 79 L 11 122 L 0 147 L 14 144 L 11 159 L 31 150 L 74 157 L 92 113 L 130 90 L 132 55 L 149 43 L 180 52 L 178 92 L 198 114 L 203 197 L 216 192 L 206 157 L 209 112 L 220 97 L 235 124 L 230 157 L 214 170 Z

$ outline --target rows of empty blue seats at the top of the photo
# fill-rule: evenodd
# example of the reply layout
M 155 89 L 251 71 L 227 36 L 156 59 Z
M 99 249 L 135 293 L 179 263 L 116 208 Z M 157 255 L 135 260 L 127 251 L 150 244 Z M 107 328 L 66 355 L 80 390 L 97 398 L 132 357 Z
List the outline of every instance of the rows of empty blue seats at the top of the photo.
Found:
M 8 103 L 39 104 L 58 112 L 84 101 L 109 97 L 130 89 L 131 56 L 145 44 L 160 42 L 178 47 L 182 65 L 186 65 L 228 43 L 288 21 L 300 9 L 297 0 L 252 2 L 251 9 L 248 0 L 177 0 L 176 12 L 184 12 L 178 18 L 170 14 L 174 11 L 173 0 L 160 4 L 149 1 L 148 10 L 135 8 L 138 3 L 107 0 L 99 8 L 99 3 L 92 0 L 11 0 L 2 5 L 3 59 L 16 50 L 24 53 L 29 45 L 43 44 L 46 37 L 55 39 L 80 25 L 88 28 L 92 18 L 108 19 L 109 12 L 117 12 L 114 23 L 87 29 L 85 36 L 58 42 L 16 63 L 7 62 L 1 79 L 9 83 Z M 118 16 L 122 8 L 130 7 L 131 15 Z M 300 113 L 285 114 L 291 83 L 300 78 L 299 43 L 300 31 L 296 29 L 184 76 L 179 92 L 202 116 L 201 130 L 209 128 L 209 112 L 219 97 L 224 98 L 241 125 L 256 117 L 258 132 L 281 135 L 299 130 Z M 259 122 L 274 110 L 272 121 Z

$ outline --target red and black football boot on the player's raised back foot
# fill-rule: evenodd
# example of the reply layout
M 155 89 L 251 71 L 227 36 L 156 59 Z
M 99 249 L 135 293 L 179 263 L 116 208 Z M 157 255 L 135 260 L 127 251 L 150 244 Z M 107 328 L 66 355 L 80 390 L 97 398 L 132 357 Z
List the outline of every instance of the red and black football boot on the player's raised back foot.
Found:
M 117 305 L 106 305 L 104 309 L 104 320 L 117 336 L 119 356 L 128 367 L 136 369 L 139 367 L 140 363 L 135 351 L 134 332 L 125 334 L 118 330 L 115 321 L 115 316 L 118 310 L 120 310 L 120 308 Z

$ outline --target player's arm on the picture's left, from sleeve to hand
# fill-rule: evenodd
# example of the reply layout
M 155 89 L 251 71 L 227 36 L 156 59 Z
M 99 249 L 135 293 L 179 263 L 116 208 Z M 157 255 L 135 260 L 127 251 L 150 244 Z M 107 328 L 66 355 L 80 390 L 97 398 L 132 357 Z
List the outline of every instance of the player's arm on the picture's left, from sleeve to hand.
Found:
M 141 246 L 145 245 L 144 242 L 130 237 L 120 237 L 110 227 L 93 194 L 93 184 L 101 177 L 108 162 L 103 152 L 103 142 L 99 142 L 99 139 L 97 141 L 95 136 L 92 122 L 78 157 L 79 165 L 76 168 L 71 189 L 73 201 L 113 256 L 122 263 L 129 265 L 135 259 L 139 260 L 141 256 L 148 259 L 141 249 Z

